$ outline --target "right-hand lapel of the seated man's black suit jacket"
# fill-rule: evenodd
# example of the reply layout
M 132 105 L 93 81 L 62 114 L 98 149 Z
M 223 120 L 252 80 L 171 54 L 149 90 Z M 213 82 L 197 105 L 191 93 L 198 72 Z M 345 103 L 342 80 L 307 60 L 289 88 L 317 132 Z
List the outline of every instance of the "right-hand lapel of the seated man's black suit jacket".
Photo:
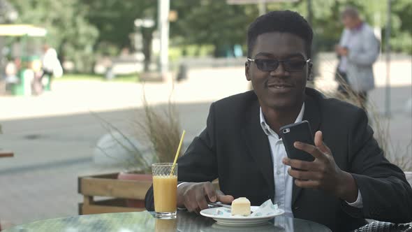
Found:
M 307 88 L 307 93 L 311 92 L 312 89 Z M 318 131 L 319 126 L 321 125 L 321 113 L 318 103 L 313 96 L 308 95 L 304 101 L 304 113 L 303 119 L 307 120 L 311 125 L 312 135 L 315 136 L 316 131 Z M 295 204 L 295 201 L 300 196 L 302 188 L 297 187 L 295 184 L 295 178 L 293 178 L 293 189 L 292 189 L 292 206 Z

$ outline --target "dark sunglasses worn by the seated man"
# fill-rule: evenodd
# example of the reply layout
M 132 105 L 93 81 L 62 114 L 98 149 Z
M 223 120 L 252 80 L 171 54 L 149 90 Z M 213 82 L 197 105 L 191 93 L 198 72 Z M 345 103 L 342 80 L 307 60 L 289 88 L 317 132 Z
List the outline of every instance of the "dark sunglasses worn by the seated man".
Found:
M 256 66 L 260 71 L 275 71 L 282 64 L 286 71 L 302 71 L 306 64 L 309 64 L 311 59 L 304 61 L 303 59 L 251 59 L 247 58 L 248 61 L 255 62 Z

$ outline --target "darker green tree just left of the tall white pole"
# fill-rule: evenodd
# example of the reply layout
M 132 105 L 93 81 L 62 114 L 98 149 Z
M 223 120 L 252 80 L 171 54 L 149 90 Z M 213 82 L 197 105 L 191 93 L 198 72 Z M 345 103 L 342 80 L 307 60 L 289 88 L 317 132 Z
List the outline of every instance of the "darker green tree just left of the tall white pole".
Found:
M 136 19 L 150 19 L 156 22 L 157 1 L 90 0 L 84 3 L 88 8 L 87 18 L 98 28 L 97 52 L 103 55 L 119 55 L 122 48 L 132 48 L 131 34 L 138 32 L 143 38 L 145 70 L 152 58 L 152 38 L 156 24 L 151 28 L 136 28 Z M 108 49 L 110 48 L 110 50 Z

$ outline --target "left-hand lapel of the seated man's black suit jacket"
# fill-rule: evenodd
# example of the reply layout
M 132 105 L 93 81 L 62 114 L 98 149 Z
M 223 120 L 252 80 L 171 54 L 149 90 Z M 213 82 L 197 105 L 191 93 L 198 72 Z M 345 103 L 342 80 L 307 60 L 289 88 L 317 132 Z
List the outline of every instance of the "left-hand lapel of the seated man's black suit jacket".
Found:
M 249 154 L 258 164 L 272 195 L 274 196 L 273 162 L 270 154 L 270 145 L 267 135 L 260 126 L 259 103 L 254 101 L 246 115 L 246 124 L 242 129 L 242 136 L 247 145 Z

